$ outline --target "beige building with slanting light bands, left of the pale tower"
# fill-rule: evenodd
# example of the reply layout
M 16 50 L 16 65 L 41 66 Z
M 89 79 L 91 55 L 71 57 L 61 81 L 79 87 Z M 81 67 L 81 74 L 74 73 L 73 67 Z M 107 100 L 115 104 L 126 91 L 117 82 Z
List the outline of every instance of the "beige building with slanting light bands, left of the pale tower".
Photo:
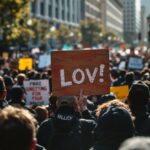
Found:
M 122 0 L 102 0 L 101 18 L 106 29 L 123 36 L 123 3 Z

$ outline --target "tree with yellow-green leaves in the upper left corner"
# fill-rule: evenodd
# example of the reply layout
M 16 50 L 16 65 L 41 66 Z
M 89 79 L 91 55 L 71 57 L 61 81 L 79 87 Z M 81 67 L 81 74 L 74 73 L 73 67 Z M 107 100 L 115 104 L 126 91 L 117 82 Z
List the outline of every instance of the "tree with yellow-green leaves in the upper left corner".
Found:
M 31 0 L 1 0 L 0 2 L 0 33 L 2 43 L 18 43 L 23 37 L 29 37 L 33 32 L 27 21 L 30 17 Z M 25 36 L 26 35 L 26 36 Z

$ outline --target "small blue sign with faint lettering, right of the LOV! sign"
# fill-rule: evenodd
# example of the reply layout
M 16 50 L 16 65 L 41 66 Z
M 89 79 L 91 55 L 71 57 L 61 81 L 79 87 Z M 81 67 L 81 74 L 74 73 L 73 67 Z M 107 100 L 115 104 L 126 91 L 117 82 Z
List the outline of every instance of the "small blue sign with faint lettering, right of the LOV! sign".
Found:
M 128 62 L 128 69 L 141 70 L 143 68 L 143 60 L 140 57 L 130 57 Z

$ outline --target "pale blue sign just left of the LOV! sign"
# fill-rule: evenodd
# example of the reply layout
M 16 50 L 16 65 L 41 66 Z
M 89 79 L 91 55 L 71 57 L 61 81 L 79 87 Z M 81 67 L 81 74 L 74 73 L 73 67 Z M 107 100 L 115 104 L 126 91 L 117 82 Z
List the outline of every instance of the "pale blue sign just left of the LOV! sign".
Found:
M 45 67 L 48 67 L 50 64 L 51 64 L 50 55 L 47 55 L 47 54 L 40 55 L 38 68 L 45 68 Z

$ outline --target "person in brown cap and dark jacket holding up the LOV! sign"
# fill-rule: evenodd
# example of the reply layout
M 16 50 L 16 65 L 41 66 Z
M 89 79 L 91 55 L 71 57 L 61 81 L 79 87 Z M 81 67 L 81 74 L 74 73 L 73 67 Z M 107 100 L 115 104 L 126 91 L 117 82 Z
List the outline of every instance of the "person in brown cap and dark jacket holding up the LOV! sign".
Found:
M 77 111 L 83 111 L 86 105 L 79 108 L 76 102 L 73 96 L 58 97 L 54 117 L 39 127 L 39 144 L 49 150 L 88 150 L 93 145 L 95 121 L 79 119 Z

